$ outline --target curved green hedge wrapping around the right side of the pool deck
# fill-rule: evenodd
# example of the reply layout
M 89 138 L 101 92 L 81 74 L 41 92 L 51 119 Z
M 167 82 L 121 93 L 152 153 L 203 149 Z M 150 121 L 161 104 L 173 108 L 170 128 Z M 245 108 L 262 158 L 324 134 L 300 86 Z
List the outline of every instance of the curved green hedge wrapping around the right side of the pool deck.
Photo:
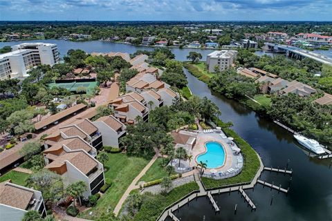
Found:
M 221 124 L 218 124 L 221 126 Z M 232 131 L 230 128 L 223 128 L 223 132 L 228 137 L 233 137 L 234 142 L 241 148 L 241 153 L 244 157 L 243 169 L 239 175 L 230 177 L 223 180 L 214 180 L 208 177 L 202 177 L 202 182 L 207 189 L 219 188 L 222 186 L 228 186 L 237 183 L 250 182 L 255 177 L 257 170 L 259 169 L 260 163 L 256 151 L 243 140 L 237 133 Z

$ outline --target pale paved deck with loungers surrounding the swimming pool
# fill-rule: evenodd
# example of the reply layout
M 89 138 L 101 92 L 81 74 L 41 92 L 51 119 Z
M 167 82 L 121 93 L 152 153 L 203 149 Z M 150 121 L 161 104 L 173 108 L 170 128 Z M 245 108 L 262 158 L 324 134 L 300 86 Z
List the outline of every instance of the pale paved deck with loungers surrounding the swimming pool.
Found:
M 202 153 L 205 153 L 205 143 L 206 142 L 219 142 L 224 148 L 225 151 L 225 163 L 223 166 L 216 168 L 214 170 L 219 172 L 225 172 L 228 171 L 228 169 L 235 169 L 238 162 L 237 157 L 239 155 L 233 155 L 232 148 L 230 148 L 230 145 L 227 143 L 230 140 L 223 139 L 220 135 L 220 133 L 203 133 L 203 131 L 200 131 L 199 134 L 196 137 L 196 144 L 192 148 L 192 161 L 190 162 L 190 166 L 197 166 L 199 162 L 196 162 L 196 158 L 201 155 Z M 242 156 L 241 156 L 242 158 Z M 243 158 L 242 158 L 243 159 Z M 212 169 L 205 169 L 205 173 L 211 173 Z

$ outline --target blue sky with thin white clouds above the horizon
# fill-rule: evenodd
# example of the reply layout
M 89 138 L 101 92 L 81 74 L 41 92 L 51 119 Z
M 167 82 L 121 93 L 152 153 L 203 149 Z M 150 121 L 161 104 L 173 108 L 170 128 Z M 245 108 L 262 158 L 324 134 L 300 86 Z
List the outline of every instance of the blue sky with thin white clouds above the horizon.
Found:
M 332 21 L 332 0 L 0 0 L 0 21 Z

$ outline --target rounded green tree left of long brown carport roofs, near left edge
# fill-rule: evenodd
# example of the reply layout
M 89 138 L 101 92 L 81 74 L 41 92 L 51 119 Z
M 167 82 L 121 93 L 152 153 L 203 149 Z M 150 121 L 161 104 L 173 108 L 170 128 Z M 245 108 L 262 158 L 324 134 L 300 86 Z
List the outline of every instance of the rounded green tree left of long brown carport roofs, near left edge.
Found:
M 15 111 L 7 117 L 6 121 L 10 126 L 11 133 L 21 135 L 35 130 L 35 126 L 33 125 L 31 119 L 33 119 L 33 113 L 25 109 Z

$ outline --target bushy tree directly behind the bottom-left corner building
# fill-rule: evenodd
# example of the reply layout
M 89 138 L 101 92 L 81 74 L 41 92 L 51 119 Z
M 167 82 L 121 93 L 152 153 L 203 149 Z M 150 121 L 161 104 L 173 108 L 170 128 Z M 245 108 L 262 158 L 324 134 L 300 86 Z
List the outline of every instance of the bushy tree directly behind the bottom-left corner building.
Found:
M 46 169 L 33 173 L 26 180 L 28 187 L 42 191 L 45 204 L 63 198 L 64 184 L 62 177 Z

